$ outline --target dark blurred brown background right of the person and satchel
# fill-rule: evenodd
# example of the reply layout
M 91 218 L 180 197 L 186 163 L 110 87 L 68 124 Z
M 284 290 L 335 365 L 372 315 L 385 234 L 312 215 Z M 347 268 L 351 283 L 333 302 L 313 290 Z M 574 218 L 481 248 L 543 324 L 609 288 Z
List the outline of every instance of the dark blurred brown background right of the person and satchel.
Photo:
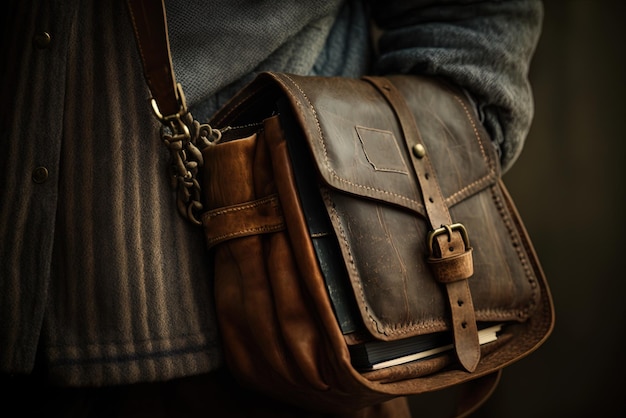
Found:
M 535 119 L 504 180 L 548 277 L 556 326 L 472 417 L 626 417 L 626 2 L 544 7 Z

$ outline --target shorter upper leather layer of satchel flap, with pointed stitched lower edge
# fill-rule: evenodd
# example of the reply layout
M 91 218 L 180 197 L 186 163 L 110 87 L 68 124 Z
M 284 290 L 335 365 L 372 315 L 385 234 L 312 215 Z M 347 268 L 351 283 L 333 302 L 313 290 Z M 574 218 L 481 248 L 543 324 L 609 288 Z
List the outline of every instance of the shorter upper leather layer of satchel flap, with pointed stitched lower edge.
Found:
M 473 110 L 458 95 L 442 96 L 432 84 L 391 78 L 420 115 L 418 128 L 437 168 L 448 206 L 497 181 L 493 147 L 480 135 Z M 306 130 L 320 174 L 338 190 L 377 199 L 424 215 L 410 169 L 409 148 L 385 99 L 368 83 L 282 75 Z M 315 85 L 308 86 L 308 83 Z M 328 87 L 324 86 L 328 83 Z M 358 97 L 359 100 L 354 98 Z

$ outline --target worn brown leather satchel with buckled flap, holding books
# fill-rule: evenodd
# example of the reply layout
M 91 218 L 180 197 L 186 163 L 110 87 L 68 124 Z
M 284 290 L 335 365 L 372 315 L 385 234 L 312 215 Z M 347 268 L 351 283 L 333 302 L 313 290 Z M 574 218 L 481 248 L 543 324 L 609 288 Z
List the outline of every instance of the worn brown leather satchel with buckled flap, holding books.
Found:
M 310 156 L 344 260 L 361 326 L 348 335 L 303 214 L 286 122 Z M 546 278 L 461 92 L 415 76 L 264 73 L 211 125 L 230 128 L 203 150 L 202 221 L 226 358 L 243 383 L 320 410 L 355 409 L 495 381 L 550 334 Z M 467 237 L 443 228 L 429 241 L 449 223 Z M 476 321 L 507 325 L 479 348 Z M 455 350 L 371 372 L 351 365 L 350 344 L 439 331 L 453 332 Z

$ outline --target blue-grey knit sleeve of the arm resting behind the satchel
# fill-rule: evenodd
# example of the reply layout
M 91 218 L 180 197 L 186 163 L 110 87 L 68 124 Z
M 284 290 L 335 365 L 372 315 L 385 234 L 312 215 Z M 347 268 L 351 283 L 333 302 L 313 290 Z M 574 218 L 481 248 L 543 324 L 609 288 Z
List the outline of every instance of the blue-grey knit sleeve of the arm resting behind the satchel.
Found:
M 372 1 L 381 29 L 375 71 L 437 76 L 464 88 L 508 170 L 532 122 L 530 61 L 540 0 Z

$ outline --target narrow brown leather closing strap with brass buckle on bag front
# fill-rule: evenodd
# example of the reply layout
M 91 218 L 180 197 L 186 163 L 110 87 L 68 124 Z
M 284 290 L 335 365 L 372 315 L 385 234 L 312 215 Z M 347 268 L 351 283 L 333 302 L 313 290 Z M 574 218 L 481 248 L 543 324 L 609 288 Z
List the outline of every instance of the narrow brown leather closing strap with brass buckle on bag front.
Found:
M 365 77 L 387 99 L 400 122 L 422 192 L 431 232 L 428 262 L 445 285 L 452 317 L 454 348 L 461 365 L 473 372 L 480 361 L 478 327 L 468 279 L 474 274 L 472 248 L 462 224 L 453 223 L 415 118 L 398 89 L 383 77 Z

